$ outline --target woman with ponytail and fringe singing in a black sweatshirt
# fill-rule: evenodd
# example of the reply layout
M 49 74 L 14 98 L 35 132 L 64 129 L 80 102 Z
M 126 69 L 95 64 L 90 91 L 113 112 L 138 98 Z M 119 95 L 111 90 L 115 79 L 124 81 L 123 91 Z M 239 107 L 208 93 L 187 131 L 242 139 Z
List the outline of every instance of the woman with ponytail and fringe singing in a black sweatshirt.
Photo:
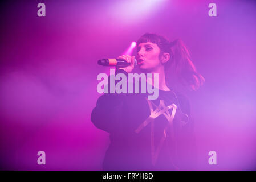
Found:
M 131 65 L 117 68 L 115 74 L 128 75 L 135 57 L 119 58 Z M 159 97 L 148 100 L 147 93 L 99 97 L 91 120 L 111 140 L 103 169 L 194 169 L 193 123 L 189 102 L 181 93 L 197 90 L 204 78 L 180 39 L 169 42 L 156 34 L 144 34 L 137 41 L 136 60 L 141 72 L 159 74 Z

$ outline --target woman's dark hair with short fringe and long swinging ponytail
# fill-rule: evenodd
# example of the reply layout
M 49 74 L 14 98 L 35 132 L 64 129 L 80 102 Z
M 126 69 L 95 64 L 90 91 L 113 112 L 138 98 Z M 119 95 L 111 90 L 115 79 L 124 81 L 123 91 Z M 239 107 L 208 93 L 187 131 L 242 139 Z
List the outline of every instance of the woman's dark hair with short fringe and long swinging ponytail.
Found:
M 170 88 L 182 92 L 183 88 L 197 90 L 204 84 L 204 77 L 197 72 L 190 60 L 188 49 L 181 39 L 169 42 L 163 36 L 146 33 L 137 41 L 137 45 L 145 42 L 155 43 L 159 46 L 159 59 L 164 52 L 170 54 L 170 60 L 164 63 L 166 84 Z

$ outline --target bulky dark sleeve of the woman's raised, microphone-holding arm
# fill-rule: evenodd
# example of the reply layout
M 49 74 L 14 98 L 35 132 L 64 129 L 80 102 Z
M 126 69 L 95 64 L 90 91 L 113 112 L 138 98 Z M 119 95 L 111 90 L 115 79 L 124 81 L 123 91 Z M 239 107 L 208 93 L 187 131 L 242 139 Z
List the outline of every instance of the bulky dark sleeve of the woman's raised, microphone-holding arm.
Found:
M 128 75 L 123 69 L 117 70 L 115 75 L 117 73 Z M 108 92 L 100 96 L 97 100 L 96 107 L 91 113 L 92 123 L 94 123 L 98 129 L 107 131 L 108 133 L 119 131 L 121 119 L 123 117 L 124 99 L 125 94 L 122 93 L 117 94 Z

